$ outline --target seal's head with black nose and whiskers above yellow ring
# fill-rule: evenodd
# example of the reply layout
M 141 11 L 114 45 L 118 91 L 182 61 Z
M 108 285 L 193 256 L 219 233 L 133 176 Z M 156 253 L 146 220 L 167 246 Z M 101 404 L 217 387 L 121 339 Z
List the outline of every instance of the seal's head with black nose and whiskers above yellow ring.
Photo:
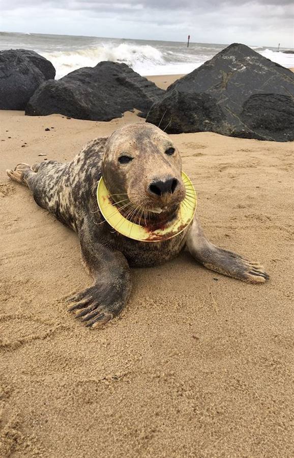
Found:
M 186 192 L 179 151 L 153 124 L 130 124 L 108 138 L 102 175 L 127 218 L 168 222 Z

